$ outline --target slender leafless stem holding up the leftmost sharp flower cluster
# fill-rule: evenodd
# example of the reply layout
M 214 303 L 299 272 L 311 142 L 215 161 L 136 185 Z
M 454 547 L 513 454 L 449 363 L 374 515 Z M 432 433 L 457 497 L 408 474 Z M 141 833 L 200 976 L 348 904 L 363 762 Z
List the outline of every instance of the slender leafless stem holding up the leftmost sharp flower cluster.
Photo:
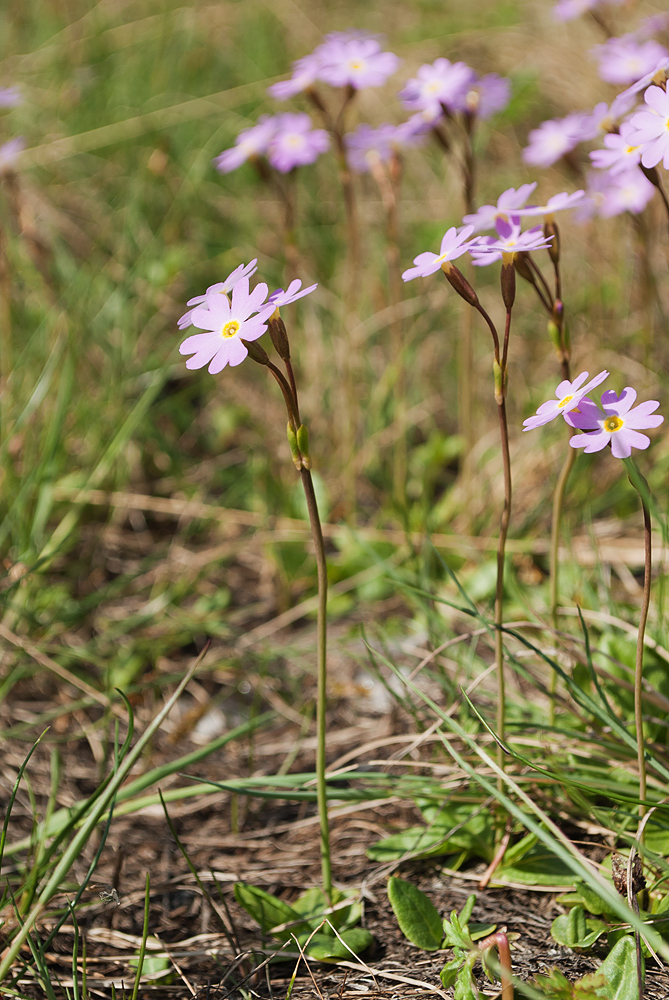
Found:
M 325 783 L 325 735 L 327 708 L 327 603 L 328 574 L 325 557 L 325 543 L 321 519 L 318 514 L 318 504 L 314 483 L 309 469 L 300 469 L 302 487 L 307 501 L 311 537 L 316 551 L 316 566 L 318 568 L 318 668 L 316 693 L 316 799 L 321 829 L 321 871 L 323 875 L 323 892 L 328 900 L 332 900 L 332 865 L 330 862 L 330 824 L 328 821 L 328 797 Z

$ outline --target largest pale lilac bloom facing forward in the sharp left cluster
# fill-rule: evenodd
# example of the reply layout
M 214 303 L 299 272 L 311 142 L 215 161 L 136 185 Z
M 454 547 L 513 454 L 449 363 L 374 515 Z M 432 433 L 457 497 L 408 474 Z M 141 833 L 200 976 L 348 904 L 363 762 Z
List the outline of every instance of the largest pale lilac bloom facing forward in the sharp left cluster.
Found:
M 267 285 L 261 282 L 249 293 L 249 279 L 240 278 L 232 289 L 232 301 L 227 295 L 214 295 L 205 306 L 193 310 L 193 326 L 206 333 L 187 337 L 179 348 L 180 354 L 192 354 L 186 368 L 204 368 L 209 365 L 212 375 L 226 365 L 239 365 L 248 351 L 244 340 L 257 340 L 267 329 L 265 320 L 276 308 L 267 298 Z M 256 315 L 253 315 L 253 314 Z

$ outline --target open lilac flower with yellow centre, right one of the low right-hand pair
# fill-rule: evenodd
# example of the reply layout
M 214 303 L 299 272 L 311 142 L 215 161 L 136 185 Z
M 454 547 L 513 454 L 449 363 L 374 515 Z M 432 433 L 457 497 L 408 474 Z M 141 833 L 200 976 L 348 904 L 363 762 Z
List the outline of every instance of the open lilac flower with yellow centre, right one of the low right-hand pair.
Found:
M 602 393 L 603 412 L 592 401 L 583 401 L 579 412 L 570 415 L 569 422 L 592 433 L 576 434 L 570 438 L 572 448 L 583 448 L 589 455 L 610 444 L 614 458 L 629 458 L 632 448 L 647 448 L 650 438 L 639 431 L 659 427 L 664 417 L 652 415 L 660 405 L 655 399 L 639 403 L 632 409 L 636 395 L 636 389 L 630 386 L 623 389 L 619 396 L 609 389 Z

